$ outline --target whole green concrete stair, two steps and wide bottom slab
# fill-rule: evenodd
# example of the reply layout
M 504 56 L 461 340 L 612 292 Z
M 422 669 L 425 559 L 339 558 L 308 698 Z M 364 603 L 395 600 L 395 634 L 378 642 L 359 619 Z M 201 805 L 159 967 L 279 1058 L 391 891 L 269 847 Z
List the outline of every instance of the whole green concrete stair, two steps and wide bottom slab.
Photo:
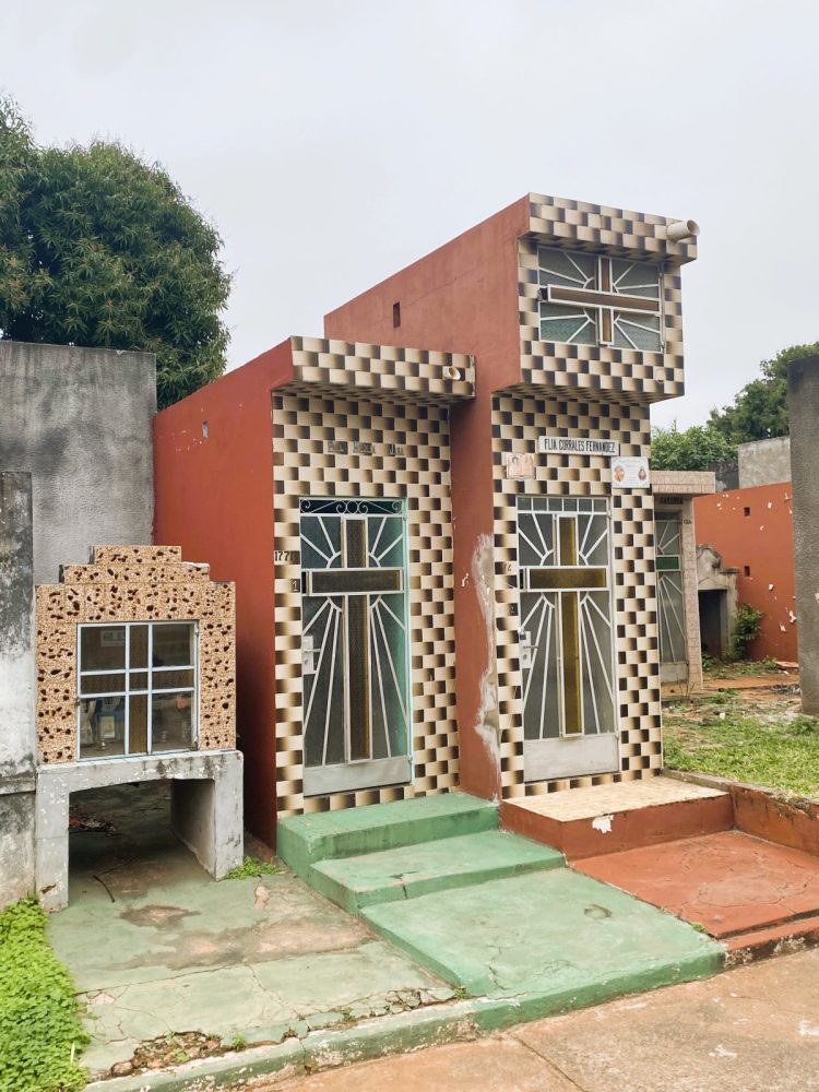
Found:
M 317 812 L 280 820 L 278 853 L 316 891 L 480 998 L 487 1026 L 496 1002 L 503 1020 L 534 1019 L 719 968 L 711 938 L 572 871 L 559 850 L 499 830 L 498 818 L 464 793 Z

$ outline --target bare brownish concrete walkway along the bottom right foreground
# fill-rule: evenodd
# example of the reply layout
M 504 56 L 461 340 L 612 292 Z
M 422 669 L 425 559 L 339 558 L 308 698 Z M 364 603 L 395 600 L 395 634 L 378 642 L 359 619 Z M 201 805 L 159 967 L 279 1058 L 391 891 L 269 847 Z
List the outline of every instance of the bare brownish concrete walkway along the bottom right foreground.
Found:
M 254 1092 L 817 1092 L 819 951 Z

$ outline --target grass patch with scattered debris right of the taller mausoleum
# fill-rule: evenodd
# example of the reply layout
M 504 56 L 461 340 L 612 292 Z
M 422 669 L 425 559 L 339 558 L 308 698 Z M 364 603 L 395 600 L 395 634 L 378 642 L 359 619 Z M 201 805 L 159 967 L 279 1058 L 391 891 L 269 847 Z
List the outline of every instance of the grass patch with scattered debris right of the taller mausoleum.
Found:
M 663 719 L 665 765 L 819 797 L 819 721 L 717 696 Z

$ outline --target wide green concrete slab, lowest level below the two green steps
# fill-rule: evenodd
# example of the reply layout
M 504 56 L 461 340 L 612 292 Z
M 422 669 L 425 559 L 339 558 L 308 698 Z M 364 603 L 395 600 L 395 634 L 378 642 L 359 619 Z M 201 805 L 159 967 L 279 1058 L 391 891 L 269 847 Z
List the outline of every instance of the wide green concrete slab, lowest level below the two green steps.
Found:
M 720 945 L 685 922 L 568 868 L 489 880 L 361 917 L 474 997 L 514 997 L 521 1020 L 713 974 Z

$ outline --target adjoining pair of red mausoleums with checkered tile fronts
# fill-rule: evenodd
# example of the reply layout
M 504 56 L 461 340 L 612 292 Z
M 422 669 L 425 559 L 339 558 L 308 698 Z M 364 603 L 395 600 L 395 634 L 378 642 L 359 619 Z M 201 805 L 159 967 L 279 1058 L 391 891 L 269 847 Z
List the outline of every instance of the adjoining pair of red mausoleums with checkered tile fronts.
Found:
M 236 583 L 251 828 L 662 765 L 649 466 L 691 222 L 529 194 L 156 418 Z

